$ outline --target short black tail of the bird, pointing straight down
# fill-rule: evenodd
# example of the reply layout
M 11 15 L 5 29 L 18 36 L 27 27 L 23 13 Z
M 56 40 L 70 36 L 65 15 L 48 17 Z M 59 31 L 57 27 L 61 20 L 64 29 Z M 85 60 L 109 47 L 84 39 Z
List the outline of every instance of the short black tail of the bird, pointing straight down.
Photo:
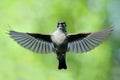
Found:
M 66 65 L 66 59 L 65 59 L 65 54 L 60 54 L 57 55 L 57 59 L 58 59 L 58 69 L 67 69 L 67 65 Z

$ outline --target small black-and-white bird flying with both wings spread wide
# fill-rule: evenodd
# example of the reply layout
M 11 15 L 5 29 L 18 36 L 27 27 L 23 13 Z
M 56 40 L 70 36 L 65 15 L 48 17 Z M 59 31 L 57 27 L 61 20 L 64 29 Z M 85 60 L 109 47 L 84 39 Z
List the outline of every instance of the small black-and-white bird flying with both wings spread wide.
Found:
M 9 30 L 10 37 L 22 47 L 35 53 L 55 53 L 58 69 L 67 69 L 66 53 L 85 53 L 99 46 L 113 31 L 113 27 L 98 32 L 68 34 L 66 22 L 59 21 L 52 34 Z

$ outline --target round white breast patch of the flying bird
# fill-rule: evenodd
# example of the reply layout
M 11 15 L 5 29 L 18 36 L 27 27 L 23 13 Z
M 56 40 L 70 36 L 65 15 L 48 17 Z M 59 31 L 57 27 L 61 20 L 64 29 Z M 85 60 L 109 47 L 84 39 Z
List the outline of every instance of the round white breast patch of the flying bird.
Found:
M 55 44 L 59 45 L 65 41 L 66 35 L 61 31 L 55 31 L 51 38 Z

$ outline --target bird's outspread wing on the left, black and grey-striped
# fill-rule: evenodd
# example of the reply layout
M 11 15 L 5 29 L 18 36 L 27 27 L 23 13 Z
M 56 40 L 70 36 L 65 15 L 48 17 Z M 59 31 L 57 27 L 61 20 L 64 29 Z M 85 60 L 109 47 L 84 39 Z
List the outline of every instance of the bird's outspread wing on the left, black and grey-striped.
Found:
M 51 53 L 53 52 L 53 44 L 50 35 L 21 33 L 10 31 L 9 35 L 18 44 L 36 53 Z

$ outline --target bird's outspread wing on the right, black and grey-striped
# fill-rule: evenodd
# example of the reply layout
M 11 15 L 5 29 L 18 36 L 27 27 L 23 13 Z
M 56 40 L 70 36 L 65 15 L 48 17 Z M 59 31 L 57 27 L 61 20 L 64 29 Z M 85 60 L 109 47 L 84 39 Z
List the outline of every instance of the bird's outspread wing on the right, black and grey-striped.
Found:
M 113 28 L 107 28 L 100 32 L 80 33 L 68 35 L 68 52 L 83 53 L 100 45 L 109 36 Z

